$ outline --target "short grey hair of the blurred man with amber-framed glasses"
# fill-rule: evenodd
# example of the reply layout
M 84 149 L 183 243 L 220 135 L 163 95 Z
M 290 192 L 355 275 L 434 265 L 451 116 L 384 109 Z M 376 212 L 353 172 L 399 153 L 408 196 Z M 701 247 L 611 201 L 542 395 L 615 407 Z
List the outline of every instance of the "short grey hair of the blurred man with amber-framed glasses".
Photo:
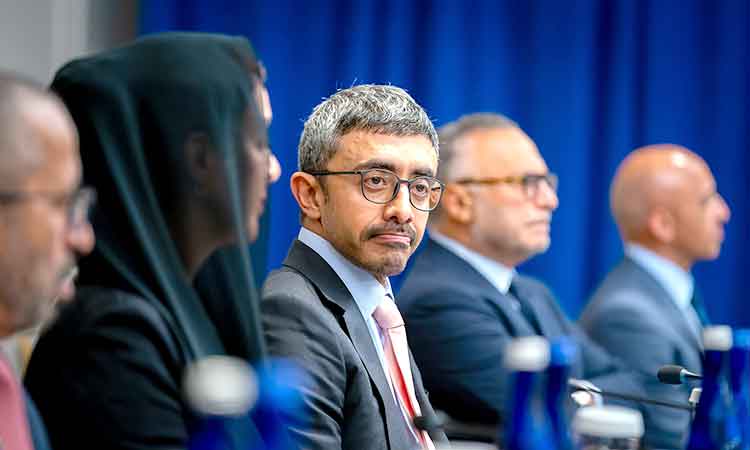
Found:
M 501 114 L 474 113 L 461 116 L 458 120 L 440 127 L 438 134 L 441 156 L 438 178 L 451 181 L 455 174 L 455 162 L 460 157 L 456 149 L 456 141 L 472 131 L 495 128 L 518 128 L 518 124 Z

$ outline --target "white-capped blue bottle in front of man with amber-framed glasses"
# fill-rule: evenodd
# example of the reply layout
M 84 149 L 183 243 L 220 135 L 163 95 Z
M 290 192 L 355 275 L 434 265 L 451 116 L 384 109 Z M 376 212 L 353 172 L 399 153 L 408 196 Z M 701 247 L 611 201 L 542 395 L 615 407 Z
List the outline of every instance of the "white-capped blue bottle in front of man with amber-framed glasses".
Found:
M 555 448 L 549 423 L 544 420 L 538 385 L 549 365 L 547 340 L 527 336 L 511 341 L 503 364 L 510 373 L 509 421 L 505 430 L 505 450 L 550 450 Z

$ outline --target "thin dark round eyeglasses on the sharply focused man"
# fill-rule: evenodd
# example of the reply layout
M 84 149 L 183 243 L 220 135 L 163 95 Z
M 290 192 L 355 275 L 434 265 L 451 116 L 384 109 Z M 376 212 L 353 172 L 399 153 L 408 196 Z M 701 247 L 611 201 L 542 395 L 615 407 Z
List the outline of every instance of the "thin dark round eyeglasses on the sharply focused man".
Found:
M 347 170 L 329 172 L 307 172 L 316 177 L 328 175 L 359 175 L 362 195 L 369 201 L 385 204 L 393 201 L 398 195 L 402 183 L 409 188 L 409 202 L 420 211 L 432 211 L 437 208 L 443 197 L 445 185 L 437 178 L 420 175 L 410 180 L 399 178 L 398 175 L 386 169 Z

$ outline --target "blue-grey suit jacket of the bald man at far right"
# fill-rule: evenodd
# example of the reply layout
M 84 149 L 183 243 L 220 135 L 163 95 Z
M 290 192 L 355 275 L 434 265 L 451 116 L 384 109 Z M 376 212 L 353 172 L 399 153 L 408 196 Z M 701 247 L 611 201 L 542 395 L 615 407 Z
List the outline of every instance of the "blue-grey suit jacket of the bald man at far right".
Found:
M 592 339 L 627 361 L 646 380 L 651 398 L 686 404 L 691 386 L 669 386 L 656 378 L 659 367 L 678 364 L 701 371 L 701 345 L 669 294 L 630 258 L 599 285 L 580 318 Z M 675 409 L 644 408 L 645 443 L 682 449 L 690 415 Z

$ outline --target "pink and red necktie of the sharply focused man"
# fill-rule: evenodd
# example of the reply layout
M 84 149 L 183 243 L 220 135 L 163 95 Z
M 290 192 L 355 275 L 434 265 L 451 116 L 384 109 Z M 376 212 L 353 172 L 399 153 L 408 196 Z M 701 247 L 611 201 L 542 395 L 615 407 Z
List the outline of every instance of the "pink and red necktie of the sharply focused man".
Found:
M 408 423 L 409 428 L 419 436 L 423 448 L 433 450 L 435 446 L 430 436 L 424 431 L 415 430 L 413 425 L 414 417 L 421 415 L 422 411 L 414 393 L 414 379 L 409 364 L 409 344 L 406 341 L 404 319 L 390 297 L 380 302 L 372 316 L 383 330 L 383 352 L 386 364 L 396 396 L 411 419 Z

